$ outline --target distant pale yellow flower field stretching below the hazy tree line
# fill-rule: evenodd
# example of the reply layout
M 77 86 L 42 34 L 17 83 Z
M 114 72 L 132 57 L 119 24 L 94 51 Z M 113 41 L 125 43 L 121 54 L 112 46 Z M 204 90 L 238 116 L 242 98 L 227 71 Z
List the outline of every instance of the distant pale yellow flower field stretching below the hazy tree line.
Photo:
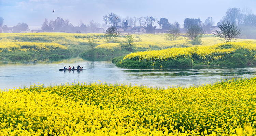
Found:
M 180 37 L 176 41 L 167 41 L 165 39 L 165 34 L 142 34 L 136 35 L 132 34 L 135 39 L 133 44 L 136 45 L 138 49 L 150 50 L 151 47 L 165 49 L 173 47 L 187 47 L 193 46 L 188 44 L 185 37 Z M 96 40 L 96 44 L 99 46 L 97 48 L 104 48 L 109 51 L 116 48 L 117 43 L 106 44 L 104 34 L 68 34 L 68 33 L 2 33 L 0 35 L 0 43 L 5 44 L 5 46 L 10 45 L 10 42 L 37 42 L 41 44 L 45 43 L 58 43 L 64 46 L 69 45 L 87 45 L 88 37 L 93 37 Z M 118 42 L 125 41 L 125 35 L 118 37 Z M 202 38 L 202 45 L 198 46 L 212 46 L 214 44 L 222 43 L 223 41 L 219 38 L 214 37 L 212 34 L 207 34 Z M 244 41 L 242 39 L 237 39 L 236 41 Z M 252 40 L 255 41 L 255 40 Z M 104 47 L 105 46 L 105 47 Z

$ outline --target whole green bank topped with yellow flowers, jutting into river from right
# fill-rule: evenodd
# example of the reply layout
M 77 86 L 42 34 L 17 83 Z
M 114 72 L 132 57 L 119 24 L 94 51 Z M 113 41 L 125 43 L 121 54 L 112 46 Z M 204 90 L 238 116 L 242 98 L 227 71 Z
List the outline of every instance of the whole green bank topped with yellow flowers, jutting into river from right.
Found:
M 115 60 L 118 67 L 189 67 L 193 65 L 246 65 L 256 63 L 256 42 L 170 48 L 137 52 Z M 114 62 L 114 63 L 115 63 Z

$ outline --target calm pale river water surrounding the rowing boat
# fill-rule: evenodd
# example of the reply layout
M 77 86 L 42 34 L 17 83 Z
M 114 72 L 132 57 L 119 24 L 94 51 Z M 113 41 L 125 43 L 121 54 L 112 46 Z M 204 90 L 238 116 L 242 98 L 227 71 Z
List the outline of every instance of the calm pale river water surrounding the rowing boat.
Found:
M 64 65 L 83 67 L 83 71 L 59 71 Z M 180 69 L 125 69 L 111 61 L 70 59 L 52 63 L 0 63 L 0 90 L 29 87 L 33 84 L 131 83 L 153 87 L 194 86 L 223 79 L 254 77 L 256 66 L 195 66 Z

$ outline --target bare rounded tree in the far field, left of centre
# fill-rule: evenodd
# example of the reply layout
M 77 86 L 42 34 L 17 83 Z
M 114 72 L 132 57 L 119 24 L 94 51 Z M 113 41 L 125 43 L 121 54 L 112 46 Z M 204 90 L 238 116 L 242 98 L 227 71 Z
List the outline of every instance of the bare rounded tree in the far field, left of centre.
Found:
M 118 30 L 116 30 L 116 26 L 110 26 L 106 32 L 106 40 L 109 43 L 117 42 L 117 36 L 120 34 Z

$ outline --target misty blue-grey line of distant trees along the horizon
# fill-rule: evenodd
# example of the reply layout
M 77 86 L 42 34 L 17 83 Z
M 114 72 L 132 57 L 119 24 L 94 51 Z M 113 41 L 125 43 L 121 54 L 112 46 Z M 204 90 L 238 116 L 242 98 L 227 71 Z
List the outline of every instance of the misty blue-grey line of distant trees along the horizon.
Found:
M 48 20 L 45 18 L 45 21 L 42 24 L 42 30 L 44 32 L 66 32 L 66 33 L 86 33 L 88 30 L 91 32 L 95 32 L 95 30 L 98 27 L 102 27 L 105 30 L 111 26 L 120 26 L 123 28 L 128 28 L 132 26 L 142 26 L 145 28 L 146 33 L 153 33 L 156 29 L 155 24 L 157 23 L 160 28 L 167 30 L 168 32 L 174 31 L 177 28 L 180 28 L 183 26 L 186 29 L 186 32 L 192 24 L 197 24 L 200 26 L 200 28 L 203 29 L 204 33 L 211 33 L 210 27 L 215 24 L 212 17 L 208 17 L 204 22 L 201 21 L 200 18 L 194 19 L 194 18 L 186 18 L 184 19 L 183 25 L 180 25 L 178 22 L 169 23 L 167 18 L 160 18 L 158 20 L 157 18 L 154 18 L 152 16 L 146 16 L 146 17 L 121 17 L 116 15 L 115 13 L 107 13 L 103 16 L 103 24 L 97 23 L 94 20 L 91 20 L 89 24 L 84 24 L 81 20 L 79 20 L 79 24 L 77 26 L 74 26 L 70 23 L 68 19 L 63 19 L 58 17 L 55 20 Z M 245 34 L 247 31 L 253 31 L 256 32 L 256 15 L 252 13 L 252 9 L 250 8 L 228 8 L 225 16 L 217 23 L 221 24 L 221 22 L 231 22 L 235 25 L 239 26 L 242 33 L 242 38 L 251 38 L 256 39 L 252 35 Z M 0 18 L 0 26 L 3 24 L 3 18 Z M 193 25 L 193 26 L 194 26 Z M 253 28 L 253 29 L 252 29 Z M 3 32 L 8 31 L 7 25 L 4 25 L 2 28 Z M 22 32 L 22 31 L 28 31 L 28 25 L 26 23 L 18 23 L 16 26 L 13 27 L 13 32 Z M 169 37 L 170 38 L 170 37 Z M 173 39 L 173 38 L 171 38 Z

